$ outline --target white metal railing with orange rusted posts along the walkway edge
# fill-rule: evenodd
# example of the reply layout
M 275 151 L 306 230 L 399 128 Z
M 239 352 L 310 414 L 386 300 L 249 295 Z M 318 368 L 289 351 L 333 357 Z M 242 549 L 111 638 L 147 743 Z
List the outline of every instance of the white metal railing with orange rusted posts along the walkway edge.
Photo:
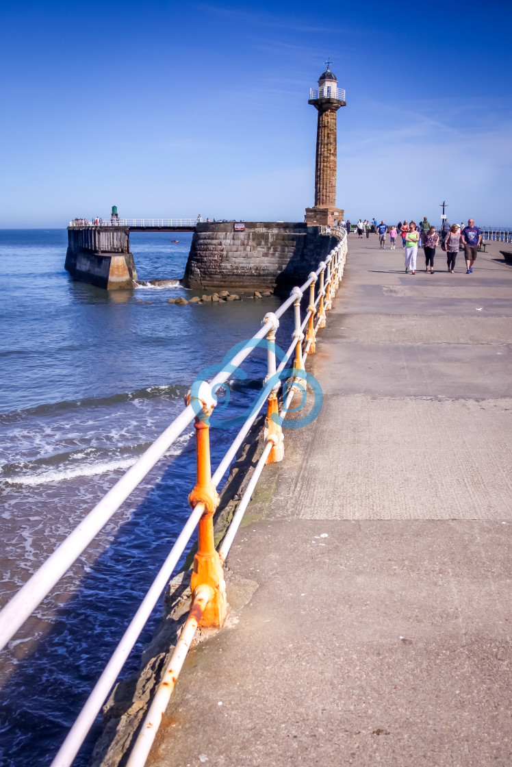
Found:
M 192 513 L 185 523 L 182 532 L 172 546 L 166 561 L 156 575 L 155 581 L 140 604 L 130 625 L 123 634 L 120 644 L 114 651 L 99 680 L 90 693 L 87 702 L 81 710 L 76 722 L 68 732 L 61 749 L 55 756 L 52 767 L 70 767 L 84 739 L 93 725 L 101 706 L 107 699 L 113 684 L 119 676 L 126 658 L 136 644 L 141 630 L 149 619 L 160 594 L 176 568 L 185 547 L 199 525 L 198 551 L 194 559 L 194 569 L 191 578 L 192 601 L 189 617 L 185 621 L 182 633 L 176 644 L 169 664 L 156 688 L 153 703 L 149 706 L 140 730 L 138 739 L 133 746 L 128 767 L 141 767 L 146 763 L 149 749 L 155 738 L 156 731 L 166 709 L 169 697 L 176 684 L 176 678 L 189 650 L 195 629 L 198 625 L 221 627 L 227 614 L 225 583 L 222 565 L 228 555 L 231 542 L 240 525 L 241 518 L 251 500 L 252 492 L 266 463 L 280 461 L 284 456 L 283 431 L 281 424 L 287 416 L 294 393 L 306 389 L 307 374 L 304 363 L 308 354 L 315 351 L 315 339 L 319 328 L 326 324 L 326 312 L 331 308 L 336 289 L 343 278 L 346 262 L 346 233 L 336 234 L 340 242 L 330 252 L 325 262 L 320 262 L 316 272 L 311 272 L 307 281 L 300 288 L 291 291 L 290 298 L 275 311 L 264 316 L 261 328 L 222 367 L 222 370 L 210 381 L 196 380 L 190 393 L 185 397 L 185 407 L 179 416 L 162 432 L 149 446 L 139 460 L 124 474 L 121 479 L 107 492 L 107 495 L 94 507 L 82 522 L 71 532 L 54 553 L 44 562 L 27 583 L 15 594 L 15 597 L 0 612 L 0 649 L 8 644 L 18 629 L 25 623 L 38 604 L 49 594 L 57 581 L 71 567 L 93 538 L 107 524 L 130 492 L 143 480 L 156 462 L 162 458 L 169 446 L 177 437 L 195 421 L 196 435 L 196 469 L 197 479 L 194 489 L 189 495 Z M 300 301 L 307 293 L 309 303 L 304 318 L 301 317 Z M 315 295 L 316 293 L 316 295 Z M 294 331 L 281 364 L 277 367 L 275 334 L 279 319 L 293 307 Z M 255 347 L 264 346 L 267 349 L 267 376 L 262 381 L 261 393 L 251 414 L 225 453 L 224 458 L 212 476 L 210 466 L 209 425 L 210 416 L 217 403 L 215 392 L 228 382 L 236 368 L 254 351 Z M 293 361 L 290 359 L 293 357 Z M 284 386 L 279 412 L 277 394 Z M 258 464 L 254 469 L 248 487 L 239 502 L 238 509 L 231 520 L 228 532 L 218 551 L 215 551 L 213 515 L 217 509 L 219 497 L 217 486 L 225 475 L 226 470 L 235 458 L 238 449 L 248 435 L 251 426 L 258 417 L 264 405 L 267 405 L 267 417 L 264 429 L 264 449 Z

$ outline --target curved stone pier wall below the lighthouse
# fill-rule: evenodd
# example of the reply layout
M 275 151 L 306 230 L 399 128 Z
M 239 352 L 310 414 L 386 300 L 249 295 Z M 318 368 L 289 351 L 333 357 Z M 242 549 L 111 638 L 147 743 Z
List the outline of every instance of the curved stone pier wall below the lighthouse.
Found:
M 337 239 L 305 223 L 198 224 L 183 284 L 187 288 L 258 290 L 300 285 L 330 253 Z

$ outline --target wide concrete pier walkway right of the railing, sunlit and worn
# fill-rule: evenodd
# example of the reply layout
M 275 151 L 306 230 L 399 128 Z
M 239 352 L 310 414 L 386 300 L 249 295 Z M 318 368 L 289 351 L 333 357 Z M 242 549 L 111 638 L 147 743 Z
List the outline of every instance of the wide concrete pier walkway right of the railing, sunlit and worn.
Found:
M 512 268 L 350 235 L 289 430 L 228 558 L 248 604 L 195 647 L 149 765 L 512 763 Z M 504 247 L 503 245 L 501 247 Z

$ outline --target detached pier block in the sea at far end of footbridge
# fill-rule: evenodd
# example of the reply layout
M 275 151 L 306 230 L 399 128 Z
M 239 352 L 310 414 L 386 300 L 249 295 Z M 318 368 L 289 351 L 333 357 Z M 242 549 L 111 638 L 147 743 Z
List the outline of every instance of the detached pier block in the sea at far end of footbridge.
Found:
M 64 268 L 81 282 L 126 290 L 137 278 L 127 226 L 70 226 Z

